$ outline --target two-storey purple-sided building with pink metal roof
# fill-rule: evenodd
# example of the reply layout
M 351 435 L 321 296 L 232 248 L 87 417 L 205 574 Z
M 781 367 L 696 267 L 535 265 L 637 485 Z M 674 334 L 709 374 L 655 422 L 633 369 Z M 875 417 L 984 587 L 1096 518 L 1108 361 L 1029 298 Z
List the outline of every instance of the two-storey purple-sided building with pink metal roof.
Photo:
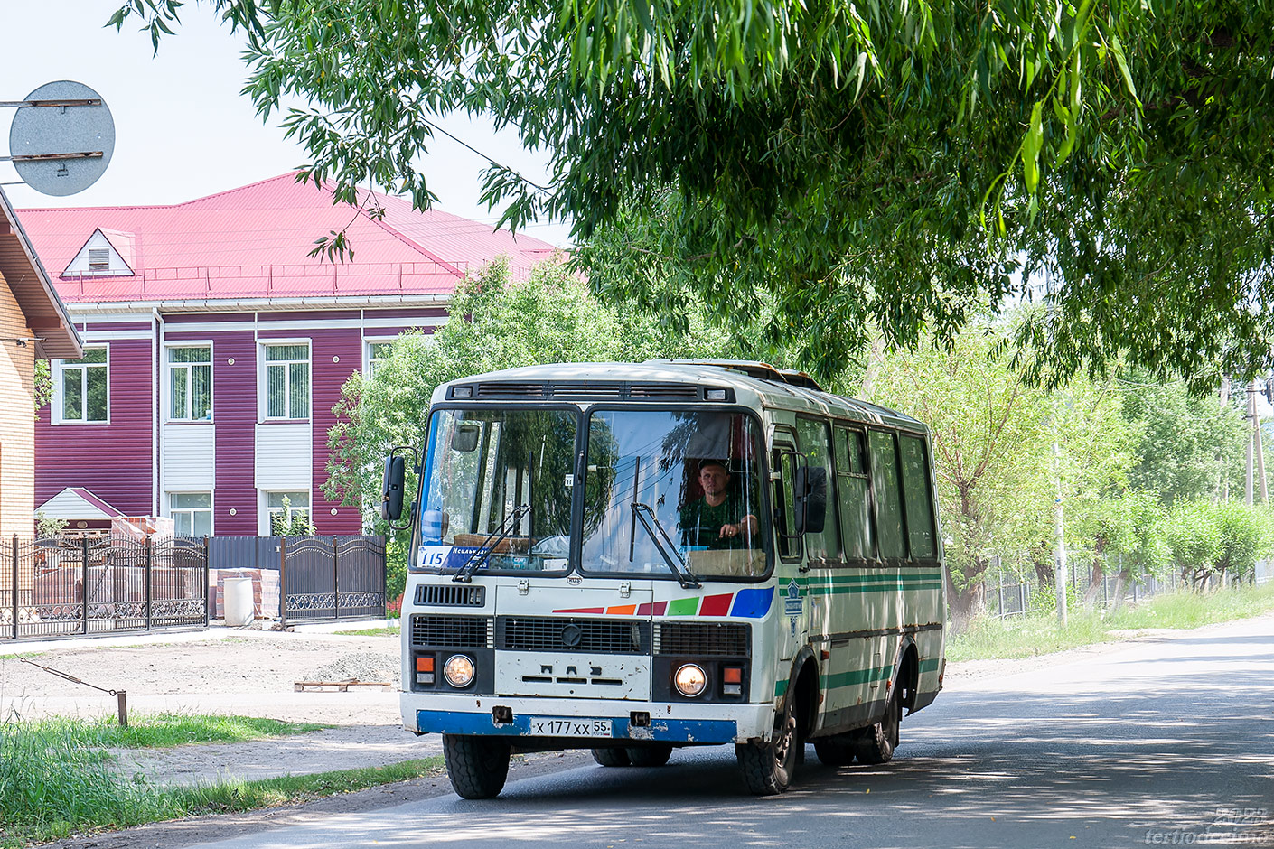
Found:
M 176 206 L 20 211 L 85 350 L 54 363 L 37 510 L 222 536 L 303 510 L 318 533 L 361 532 L 358 507 L 322 495 L 340 387 L 399 333 L 445 322 L 466 272 L 507 257 L 524 276 L 554 251 L 375 200 L 383 218 L 284 174 Z M 341 228 L 357 262 L 307 256 Z

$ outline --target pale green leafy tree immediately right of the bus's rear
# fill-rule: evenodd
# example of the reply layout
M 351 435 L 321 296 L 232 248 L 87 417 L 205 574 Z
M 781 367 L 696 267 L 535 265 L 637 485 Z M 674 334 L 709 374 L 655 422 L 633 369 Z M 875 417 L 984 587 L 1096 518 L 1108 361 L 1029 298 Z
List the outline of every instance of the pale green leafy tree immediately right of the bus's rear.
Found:
M 1127 462 L 1113 393 L 1087 381 L 1045 393 L 999 355 L 1005 332 L 984 322 L 949 350 L 921 345 L 869 368 L 870 400 L 930 426 L 957 628 L 985 608 L 991 555 L 1042 544 L 1051 572 L 1059 485 L 1064 502 L 1082 503 Z

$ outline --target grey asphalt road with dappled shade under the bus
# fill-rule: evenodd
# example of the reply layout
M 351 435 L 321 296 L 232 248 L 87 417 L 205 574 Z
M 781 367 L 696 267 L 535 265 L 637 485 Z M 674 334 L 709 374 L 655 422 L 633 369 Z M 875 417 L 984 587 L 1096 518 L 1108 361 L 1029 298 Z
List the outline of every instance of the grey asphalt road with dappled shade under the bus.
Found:
M 660 769 L 573 764 L 498 799 L 450 794 L 219 843 L 310 846 L 1274 846 L 1274 617 L 948 687 L 883 768 L 813 747 L 745 794 L 730 747 Z

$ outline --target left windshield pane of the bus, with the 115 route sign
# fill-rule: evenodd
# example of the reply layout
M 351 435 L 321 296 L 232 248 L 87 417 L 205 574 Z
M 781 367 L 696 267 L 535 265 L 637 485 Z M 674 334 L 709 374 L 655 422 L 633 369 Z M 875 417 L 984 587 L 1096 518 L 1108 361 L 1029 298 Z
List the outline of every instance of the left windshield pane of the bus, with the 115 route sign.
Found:
M 566 570 L 577 419 L 573 409 L 436 411 L 414 565 L 460 569 L 476 556 L 492 570 Z

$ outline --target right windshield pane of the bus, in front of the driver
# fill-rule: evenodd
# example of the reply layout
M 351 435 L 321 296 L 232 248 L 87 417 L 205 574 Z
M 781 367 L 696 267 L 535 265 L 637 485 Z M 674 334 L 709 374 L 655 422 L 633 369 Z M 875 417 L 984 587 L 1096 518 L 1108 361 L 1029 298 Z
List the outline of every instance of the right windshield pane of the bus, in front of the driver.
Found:
M 673 577 L 684 564 L 699 578 L 764 574 L 761 456 L 759 428 L 744 412 L 594 411 L 581 570 Z

